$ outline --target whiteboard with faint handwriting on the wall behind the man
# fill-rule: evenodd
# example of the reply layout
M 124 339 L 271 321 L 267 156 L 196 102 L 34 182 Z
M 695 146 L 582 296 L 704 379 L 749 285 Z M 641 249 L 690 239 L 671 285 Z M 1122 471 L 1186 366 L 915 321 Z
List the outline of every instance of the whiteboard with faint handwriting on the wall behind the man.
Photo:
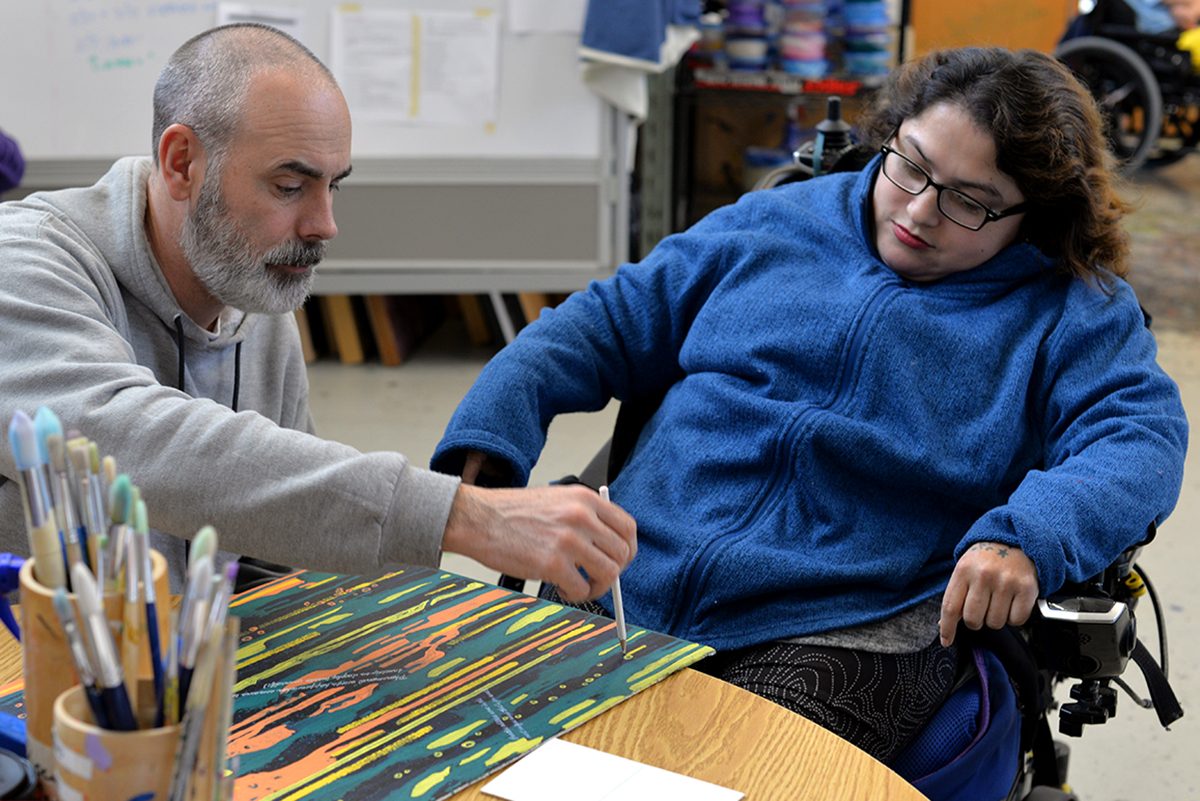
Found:
M 330 60 L 330 19 L 337 4 L 268 0 L 295 8 L 304 42 Z M 370 0 L 362 8 L 479 11 L 502 14 L 496 120 L 418 126 L 353 119 L 360 158 L 600 159 L 604 102 L 581 78 L 570 32 L 514 34 L 504 0 Z M 0 127 L 31 162 L 109 161 L 150 153 L 154 83 L 169 55 L 212 26 L 215 1 L 0 0 Z M 358 175 L 358 170 L 355 170 Z

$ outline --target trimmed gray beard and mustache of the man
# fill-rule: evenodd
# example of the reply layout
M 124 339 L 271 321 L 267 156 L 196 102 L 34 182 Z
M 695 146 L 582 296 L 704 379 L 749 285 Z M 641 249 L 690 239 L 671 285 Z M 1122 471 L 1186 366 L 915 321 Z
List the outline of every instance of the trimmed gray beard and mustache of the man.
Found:
M 220 175 L 210 173 L 200 187 L 179 236 L 184 257 L 196 278 L 215 299 L 242 312 L 281 314 L 304 303 L 316 272 L 293 275 L 269 264 L 312 265 L 325 257 L 325 242 L 288 240 L 265 253 L 254 253 L 250 240 L 221 195 Z

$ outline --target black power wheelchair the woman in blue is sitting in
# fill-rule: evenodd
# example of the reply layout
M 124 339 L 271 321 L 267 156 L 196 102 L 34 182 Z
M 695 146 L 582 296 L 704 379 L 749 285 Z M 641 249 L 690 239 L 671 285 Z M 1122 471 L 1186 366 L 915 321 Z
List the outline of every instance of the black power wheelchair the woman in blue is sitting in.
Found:
M 830 98 L 829 106 L 829 119 L 818 124 L 817 139 L 797 150 L 794 164 L 763 176 L 756 191 L 862 169 L 870 161 L 874 153 L 854 145 L 850 126 L 840 120 L 840 101 Z M 661 399 L 623 401 L 611 439 L 578 476 L 560 483 L 593 488 L 612 483 Z M 930 801 L 1079 801 L 1067 784 L 1069 746 L 1051 733 L 1055 711 L 1060 733 L 1080 736 L 1085 727 L 1103 724 L 1116 713 L 1116 691 L 1122 688 L 1139 707 L 1153 709 L 1164 728 L 1182 717 L 1166 680 L 1162 604 L 1136 564 L 1153 535 L 1151 528 L 1141 543 L 1100 576 L 1039 600 L 1030 622 L 1020 628 L 976 632 L 960 626 L 958 642 L 968 657 L 962 660 L 958 682 L 893 770 Z M 499 584 L 518 592 L 524 589 L 523 579 L 510 576 L 502 576 Z M 540 594 L 557 600 L 545 586 Z M 1157 621 L 1158 661 L 1136 634 L 1134 609 L 1144 596 Z M 1121 677 L 1129 662 L 1141 669 L 1148 699 Z M 1066 682 L 1074 682 L 1072 700 L 1060 706 L 1055 691 Z

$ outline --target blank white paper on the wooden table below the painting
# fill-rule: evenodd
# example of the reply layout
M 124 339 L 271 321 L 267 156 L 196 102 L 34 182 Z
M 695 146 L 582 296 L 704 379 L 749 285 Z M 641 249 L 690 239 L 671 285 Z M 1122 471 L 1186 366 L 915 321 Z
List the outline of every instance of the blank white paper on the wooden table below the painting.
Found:
M 742 793 L 552 739 L 488 782 L 505 801 L 738 801 Z

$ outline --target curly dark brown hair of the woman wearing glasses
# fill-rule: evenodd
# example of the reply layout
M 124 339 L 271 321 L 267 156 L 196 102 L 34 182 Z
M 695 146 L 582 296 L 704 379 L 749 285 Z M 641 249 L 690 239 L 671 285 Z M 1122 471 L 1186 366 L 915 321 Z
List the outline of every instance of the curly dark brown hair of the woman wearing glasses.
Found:
M 967 112 L 996 143 L 996 167 L 1030 203 L 1024 239 L 1081 278 L 1129 271 L 1121 225 L 1130 206 L 1096 101 L 1067 67 L 1036 50 L 961 48 L 895 70 L 859 122 L 877 149 L 900 124 L 937 103 Z M 1103 283 L 1103 281 L 1102 281 Z

